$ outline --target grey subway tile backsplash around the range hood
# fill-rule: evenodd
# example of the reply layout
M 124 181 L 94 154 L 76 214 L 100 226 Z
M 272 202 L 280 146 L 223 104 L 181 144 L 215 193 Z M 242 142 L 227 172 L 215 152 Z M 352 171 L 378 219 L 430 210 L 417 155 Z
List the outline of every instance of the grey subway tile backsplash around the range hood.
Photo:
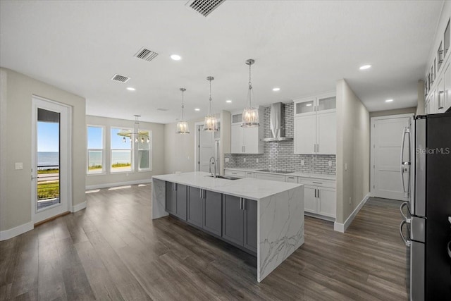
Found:
M 285 136 L 294 135 L 293 103 L 285 104 Z M 264 111 L 264 137 L 270 137 L 270 107 Z M 225 154 L 225 168 L 257 168 L 335 175 L 335 155 L 293 154 L 294 142 L 264 142 L 264 154 Z M 257 163 L 258 159 L 258 163 Z M 304 165 L 301 165 L 302 160 Z M 328 163 L 331 161 L 332 166 Z

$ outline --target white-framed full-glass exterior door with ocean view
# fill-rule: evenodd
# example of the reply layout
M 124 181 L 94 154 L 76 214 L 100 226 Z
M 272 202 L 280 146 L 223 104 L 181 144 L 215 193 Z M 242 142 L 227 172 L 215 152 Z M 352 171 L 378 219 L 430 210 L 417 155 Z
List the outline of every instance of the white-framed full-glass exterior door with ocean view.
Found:
M 32 221 L 69 211 L 70 108 L 32 98 Z

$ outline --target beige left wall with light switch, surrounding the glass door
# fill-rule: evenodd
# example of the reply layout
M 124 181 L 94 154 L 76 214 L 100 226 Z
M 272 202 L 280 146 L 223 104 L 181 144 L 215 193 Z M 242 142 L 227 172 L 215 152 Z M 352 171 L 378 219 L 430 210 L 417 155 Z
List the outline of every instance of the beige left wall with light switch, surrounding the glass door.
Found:
M 13 70 L 0 68 L 0 231 L 31 221 L 32 95 L 72 107 L 72 205 L 85 202 L 85 99 Z M 6 91 L 5 91 L 6 90 Z M 23 162 L 16 170 L 15 162 Z

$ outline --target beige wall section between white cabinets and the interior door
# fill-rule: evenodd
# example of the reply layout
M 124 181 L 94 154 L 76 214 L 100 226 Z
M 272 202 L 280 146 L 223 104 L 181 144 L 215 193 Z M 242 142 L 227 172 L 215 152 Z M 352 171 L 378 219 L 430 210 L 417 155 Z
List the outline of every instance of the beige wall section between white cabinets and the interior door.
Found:
M 345 223 L 369 192 L 369 147 L 369 112 L 347 82 L 338 80 L 337 223 Z

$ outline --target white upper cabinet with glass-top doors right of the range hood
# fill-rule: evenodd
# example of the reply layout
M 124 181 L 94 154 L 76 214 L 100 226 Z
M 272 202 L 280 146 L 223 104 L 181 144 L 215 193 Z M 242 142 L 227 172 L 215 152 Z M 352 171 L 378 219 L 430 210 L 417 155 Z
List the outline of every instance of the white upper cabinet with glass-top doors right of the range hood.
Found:
M 336 154 L 335 93 L 295 99 L 295 154 Z

